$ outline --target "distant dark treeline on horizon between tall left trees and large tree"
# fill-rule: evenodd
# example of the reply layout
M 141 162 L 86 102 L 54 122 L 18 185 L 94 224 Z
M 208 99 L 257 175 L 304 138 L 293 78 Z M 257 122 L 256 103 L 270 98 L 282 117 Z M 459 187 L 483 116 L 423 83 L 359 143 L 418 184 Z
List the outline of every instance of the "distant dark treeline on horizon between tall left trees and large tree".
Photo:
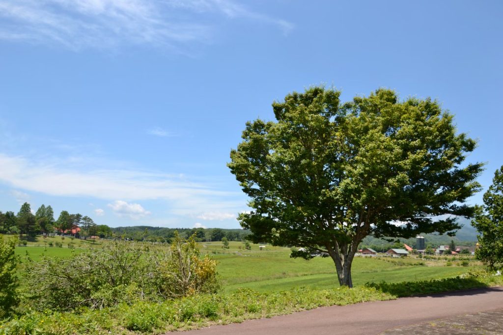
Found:
M 198 242 L 221 241 L 223 237 L 229 241 L 242 241 L 250 234 L 248 230 L 222 228 L 163 228 L 150 226 L 133 226 L 111 228 L 112 234 L 130 240 L 169 242 L 178 232 L 180 236 L 189 238 L 195 235 Z

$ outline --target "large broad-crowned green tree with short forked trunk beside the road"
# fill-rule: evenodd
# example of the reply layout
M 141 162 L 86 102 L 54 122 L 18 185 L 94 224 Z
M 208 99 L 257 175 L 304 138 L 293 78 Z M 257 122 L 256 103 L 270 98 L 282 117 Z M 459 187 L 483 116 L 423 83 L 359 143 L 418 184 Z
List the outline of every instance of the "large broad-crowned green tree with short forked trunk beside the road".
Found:
M 385 89 L 339 97 L 313 87 L 274 102 L 277 121 L 247 122 L 228 166 L 251 199 L 239 215 L 249 239 L 306 250 L 293 257 L 326 253 L 351 287 L 365 236 L 452 234 L 457 215 L 471 217 L 464 201 L 480 189 L 482 164 L 462 166 L 476 143 L 436 101 Z

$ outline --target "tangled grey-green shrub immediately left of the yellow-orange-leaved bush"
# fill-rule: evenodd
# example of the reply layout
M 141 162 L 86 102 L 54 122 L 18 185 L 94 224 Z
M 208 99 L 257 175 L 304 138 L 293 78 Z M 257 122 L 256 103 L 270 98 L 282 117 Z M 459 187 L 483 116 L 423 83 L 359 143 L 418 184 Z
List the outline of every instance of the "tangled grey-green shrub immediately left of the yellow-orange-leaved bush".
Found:
M 141 296 L 142 253 L 134 245 L 113 242 L 70 258 L 42 257 L 27 265 L 27 302 L 36 310 L 64 311 L 103 308 Z

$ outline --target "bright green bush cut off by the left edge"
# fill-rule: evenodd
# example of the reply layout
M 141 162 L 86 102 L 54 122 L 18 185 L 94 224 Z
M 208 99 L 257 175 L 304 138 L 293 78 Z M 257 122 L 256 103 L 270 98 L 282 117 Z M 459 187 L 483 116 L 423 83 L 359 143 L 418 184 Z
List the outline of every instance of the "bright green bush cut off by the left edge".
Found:
M 0 235 L 0 319 L 9 316 L 19 300 L 16 291 L 18 258 L 14 253 L 15 246 L 14 238 L 5 241 Z

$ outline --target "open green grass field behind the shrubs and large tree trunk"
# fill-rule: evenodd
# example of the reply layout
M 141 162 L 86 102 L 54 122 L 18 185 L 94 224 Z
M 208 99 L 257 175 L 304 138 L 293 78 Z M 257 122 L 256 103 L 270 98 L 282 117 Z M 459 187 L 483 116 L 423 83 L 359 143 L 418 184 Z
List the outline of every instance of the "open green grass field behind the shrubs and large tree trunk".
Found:
M 48 242 L 61 241 L 63 247 L 48 246 Z M 67 246 L 73 242 L 75 249 Z M 108 241 L 101 241 L 108 243 Z M 224 291 L 233 292 L 238 288 L 250 288 L 260 292 L 288 290 L 293 287 L 326 289 L 339 286 L 336 269 L 329 258 L 316 257 L 310 261 L 290 258 L 290 249 L 265 245 L 260 250 L 258 244 L 251 244 L 251 250 L 244 248 L 243 242 L 229 242 L 229 248 L 222 248 L 221 242 L 200 242 L 202 255 L 210 255 L 218 261 L 217 270 L 222 278 Z M 37 246 L 38 245 L 38 246 Z M 70 257 L 72 252 L 80 253 L 92 245 L 90 241 L 71 240 L 65 237 L 39 238 L 27 246 L 17 246 L 16 254 L 22 262 L 27 262 L 26 254 L 33 261 L 39 261 L 42 255 L 48 257 Z M 162 248 L 165 246 L 157 245 Z M 465 273 L 470 268 L 480 266 L 470 261 L 469 267 L 461 267 L 456 258 L 451 259 L 453 266 L 446 266 L 443 261 L 424 261 L 416 258 L 360 258 L 353 262 L 352 275 L 355 286 L 366 282 L 403 282 L 453 277 Z M 23 268 L 21 265 L 20 270 Z M 22 270 L 21 270 L 22 271 Z

